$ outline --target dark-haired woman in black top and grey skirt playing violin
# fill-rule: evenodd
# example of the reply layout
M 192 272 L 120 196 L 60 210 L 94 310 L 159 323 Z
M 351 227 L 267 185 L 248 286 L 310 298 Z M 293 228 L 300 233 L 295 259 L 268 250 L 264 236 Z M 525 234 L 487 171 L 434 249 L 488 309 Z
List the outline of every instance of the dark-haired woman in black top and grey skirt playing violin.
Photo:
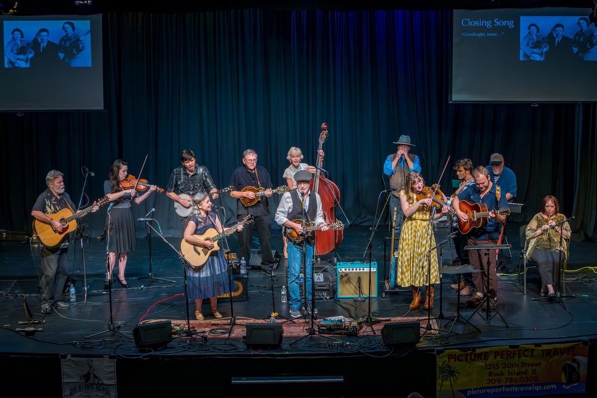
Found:
M 110 273 L 106 275 L 104 288 L 108 288 L 112 280 L 112 270 L 116 263 L 116 254 L 118 253 L 118 283 L 123 288 L 130 285 L 124 276 L 124 270 L 127 267 L 127 252 L 137 249 L 137 240 L 135 237 L 135 220 L 131 210 L 131 202 L 139 203 L 156 189 L 155 185 L 149 186 L 149 189 L 137 196 L 137 191 L 133 189 L 124 189 L 122 181 L 128 177 L 128 163 L 118 159 L 112 163 L 112 168 L 108 173 L 108 179 L 104 181 L 104 193 L 114 203 L 113 208 L 106 216 L 106 229 L 108 231 L 107 250 L 109 252 Z M 110 222 L 111 221 L 111 222 Z

